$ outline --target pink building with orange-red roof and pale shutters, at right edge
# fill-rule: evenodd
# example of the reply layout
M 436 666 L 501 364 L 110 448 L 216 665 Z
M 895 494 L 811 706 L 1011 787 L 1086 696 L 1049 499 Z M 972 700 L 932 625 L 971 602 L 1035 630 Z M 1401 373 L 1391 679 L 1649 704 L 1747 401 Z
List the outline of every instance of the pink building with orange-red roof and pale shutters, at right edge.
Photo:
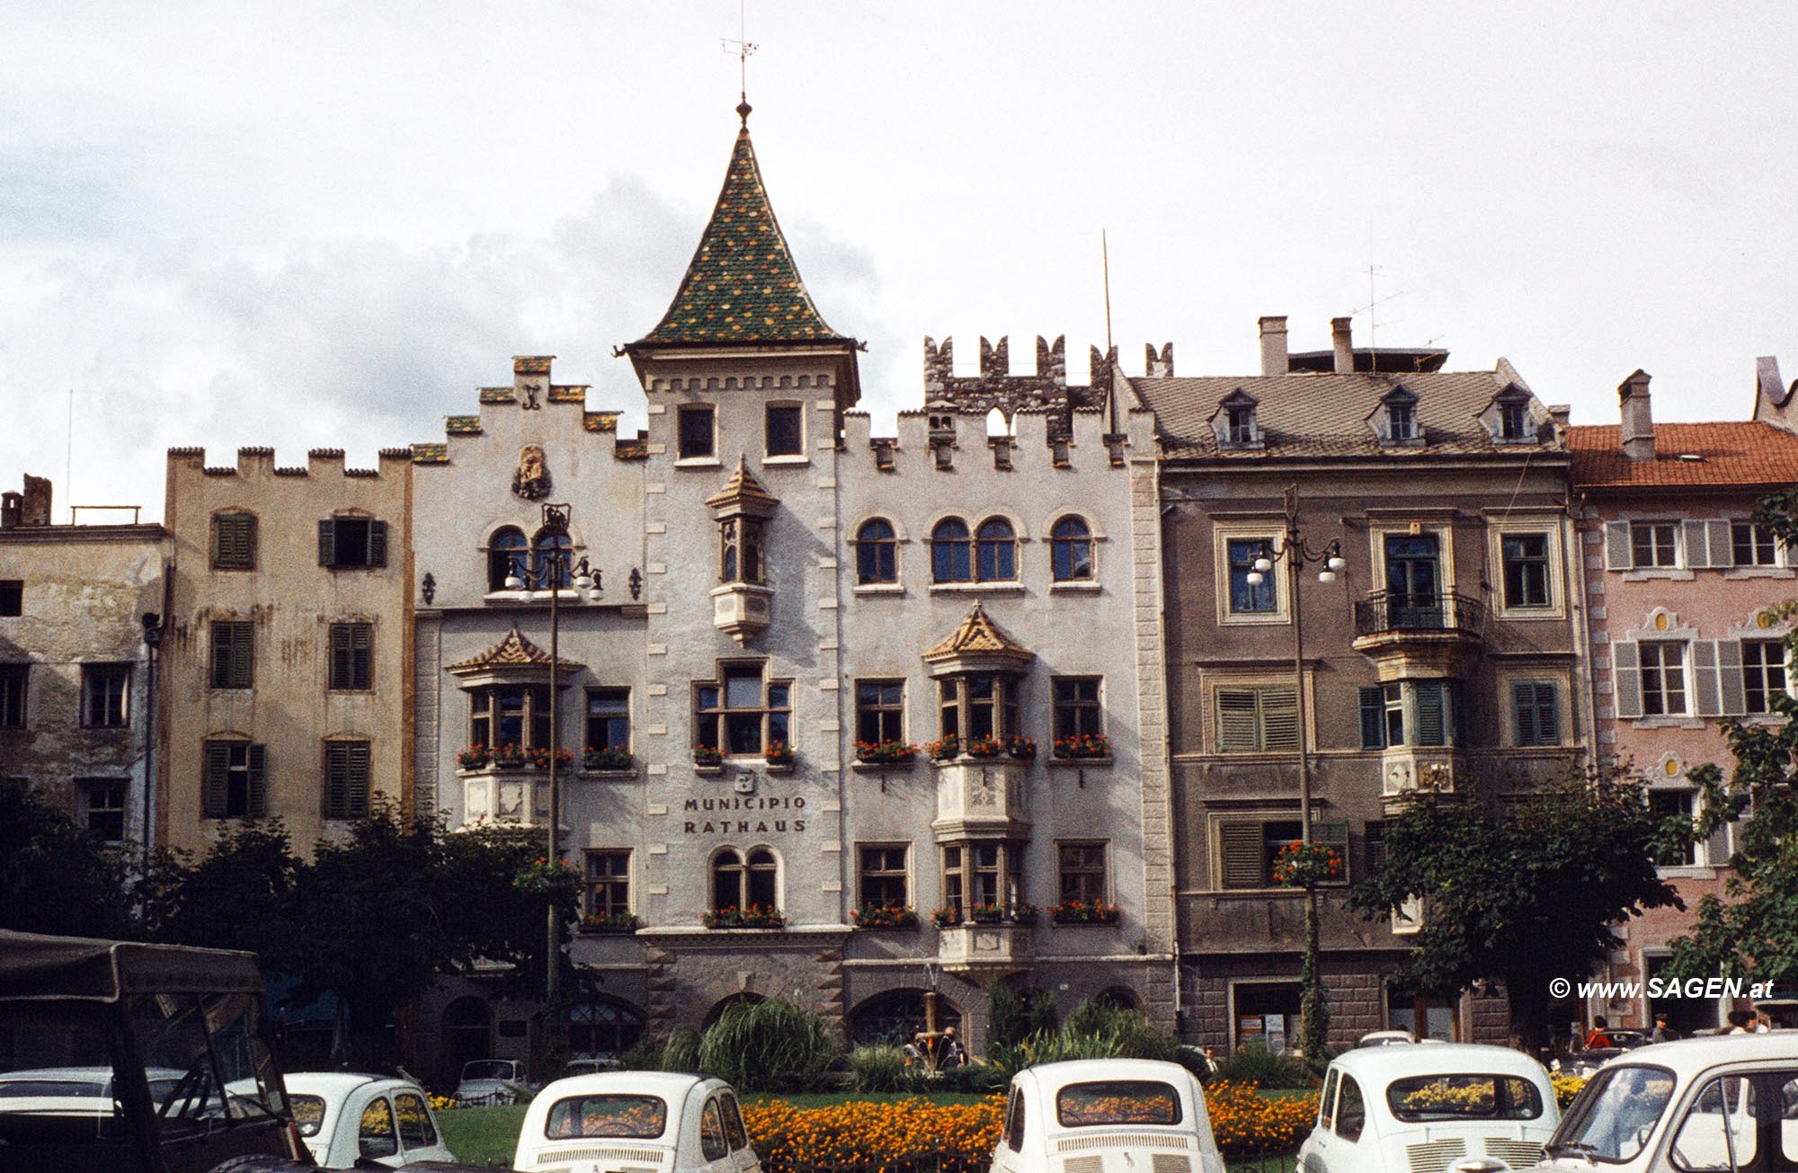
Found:
M 1733 759 L 1726 718 L 1778 721 L 1771 698 L 1791 687 L 1773 608 L 1798 595 L 1798 547 L 1749 518 L 1762 497 L 1798 482 L 1798 405 L 1778 367 L 1760 360 L 1753 419 L 1656 425 L 1649 376 L 1618 387 L 1622 423 L 1571 428 L 1591 633 L 1598 756 L 1638 770 L 1663 813 L 1697 813 L 1688 774 Z M 1722 894 L 1733 828 L 1661 864 L 1687 910 L 1633 919 L 1600 982 L 1636 982 L 1633 997 L 1570 998 L 1568 1020 L 1606 1015 L 1613 1025 L 1652 1025 L 1665 1013 L 1679 1033 L 1715 1027 L 1728 998 L 1654 998 L 1651 979 L 1697 901 Z M 1613 988 L 1613 993 L 1616 989 Z M 1559 1015 L 1557 1015 L 1559 1016 Z

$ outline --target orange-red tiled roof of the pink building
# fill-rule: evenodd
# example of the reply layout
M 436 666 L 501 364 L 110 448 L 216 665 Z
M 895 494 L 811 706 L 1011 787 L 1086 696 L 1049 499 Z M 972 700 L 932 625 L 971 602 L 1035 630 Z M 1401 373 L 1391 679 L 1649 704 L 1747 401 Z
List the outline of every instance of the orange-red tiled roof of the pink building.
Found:
M 1652 461 L 1625 457 L 1615 423 L 1568 428 L 1568 450 L 1579 488 L 1798 484 L 1798 435 L 1764 421 L 1658 423 Z

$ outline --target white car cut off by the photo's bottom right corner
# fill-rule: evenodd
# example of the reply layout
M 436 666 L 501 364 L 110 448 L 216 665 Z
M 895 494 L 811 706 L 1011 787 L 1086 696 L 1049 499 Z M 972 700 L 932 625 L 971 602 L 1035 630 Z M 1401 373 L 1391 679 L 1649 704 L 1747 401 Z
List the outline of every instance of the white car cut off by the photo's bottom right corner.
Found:
M 1798 1031 L 1625 1051 L 1568 1105 L 1539 1173 L 1798 1169 Z

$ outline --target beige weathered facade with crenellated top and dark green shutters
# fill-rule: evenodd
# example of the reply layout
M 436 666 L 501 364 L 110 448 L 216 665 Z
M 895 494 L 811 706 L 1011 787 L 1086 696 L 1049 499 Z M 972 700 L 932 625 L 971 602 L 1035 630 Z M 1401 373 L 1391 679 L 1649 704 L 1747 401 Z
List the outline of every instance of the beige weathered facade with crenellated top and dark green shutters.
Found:
M 410 486 L 410 450 L 169 452 L 164 846 L 266 817 L 307 855 L 374 795 L 412 802 Z

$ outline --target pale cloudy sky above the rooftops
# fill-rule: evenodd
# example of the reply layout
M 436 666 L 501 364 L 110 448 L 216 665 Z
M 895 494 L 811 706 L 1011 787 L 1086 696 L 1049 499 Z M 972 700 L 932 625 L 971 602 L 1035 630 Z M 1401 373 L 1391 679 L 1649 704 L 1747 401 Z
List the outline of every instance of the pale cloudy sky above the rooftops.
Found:
M 164 450 L 441 439 L 511 354 L 640 417 L 735 133 L 737 0 L 0 9 L 0 486 L 162 516 Z M 1798 376 L 1798 5 L 748 0 L 775 210 L 876 421 L 921 338 L 1255 318 L 1510 358 L 1575 423 Z M 1372 279 L 1368 268 L 1374 268 Z M 1372 304 L 1372 309 L 1370 309 Z M 72 486 L 65 484 L 70 390 Z

